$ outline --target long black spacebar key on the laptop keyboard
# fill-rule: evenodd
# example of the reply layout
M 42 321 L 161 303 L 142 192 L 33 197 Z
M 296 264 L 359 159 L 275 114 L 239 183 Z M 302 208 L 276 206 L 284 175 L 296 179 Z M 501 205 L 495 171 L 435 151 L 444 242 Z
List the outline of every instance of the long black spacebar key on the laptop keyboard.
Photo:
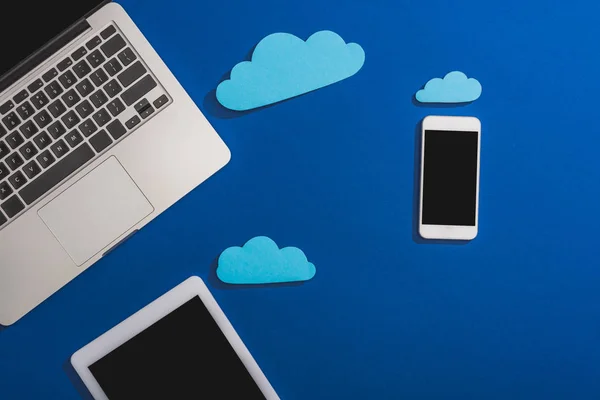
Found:
M 27 205 L 33 203 L 92 158 L 94 158 L 94 151 L 87 143 L 84 143 L 25 186 L 19 192 L 21 198 Z

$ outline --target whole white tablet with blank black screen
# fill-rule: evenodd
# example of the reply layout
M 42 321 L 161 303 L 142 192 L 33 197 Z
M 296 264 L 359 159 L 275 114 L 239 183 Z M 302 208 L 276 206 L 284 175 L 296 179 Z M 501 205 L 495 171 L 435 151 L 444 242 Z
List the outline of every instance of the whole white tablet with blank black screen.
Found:
M 94 399 L 279 399 L 198 277 L 71 357 Z

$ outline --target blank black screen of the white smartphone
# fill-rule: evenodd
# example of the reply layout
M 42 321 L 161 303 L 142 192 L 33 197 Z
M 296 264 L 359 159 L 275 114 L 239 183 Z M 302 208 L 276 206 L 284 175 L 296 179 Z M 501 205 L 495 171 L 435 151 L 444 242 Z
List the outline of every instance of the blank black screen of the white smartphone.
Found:
M 477 132 L 425 131 L 424 225 L 475 226 Z

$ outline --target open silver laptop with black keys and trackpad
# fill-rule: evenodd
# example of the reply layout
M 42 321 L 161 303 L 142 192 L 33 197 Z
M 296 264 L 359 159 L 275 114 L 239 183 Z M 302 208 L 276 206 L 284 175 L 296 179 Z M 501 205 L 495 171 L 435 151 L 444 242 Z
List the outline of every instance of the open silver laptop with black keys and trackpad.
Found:
M 0 324 L 221 169 L 230 152 L 125 10 L 14 1 L 0 58 Z M 50 17 L 51 16 L 51 17 Z

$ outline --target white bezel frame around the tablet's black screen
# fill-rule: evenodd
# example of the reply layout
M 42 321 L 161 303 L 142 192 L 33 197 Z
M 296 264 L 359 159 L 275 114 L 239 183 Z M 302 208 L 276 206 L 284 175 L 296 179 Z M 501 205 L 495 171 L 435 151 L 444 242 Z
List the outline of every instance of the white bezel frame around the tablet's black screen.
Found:
M 240 339 L 239 335 L 202 281 L 193 276 L 163 294 L 120 324 L 99 336 L 71 356 L 71 364 L 96 400 L 109 400 L 89 367 L 138 333 L 158 322 L 183 304 L 199 296 L 210 315 L 237 353 L 267 400 L 279 400 L 279 396 Z

